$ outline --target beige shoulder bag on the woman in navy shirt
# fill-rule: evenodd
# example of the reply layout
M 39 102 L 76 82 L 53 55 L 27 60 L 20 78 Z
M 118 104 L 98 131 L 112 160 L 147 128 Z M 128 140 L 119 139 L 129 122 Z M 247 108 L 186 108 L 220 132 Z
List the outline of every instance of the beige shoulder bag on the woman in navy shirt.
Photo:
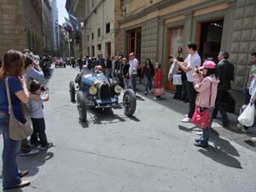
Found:
M 20 102 L 21 113 L 23 115 L 23 122 L 20 123 L 18 119 L 15 118 L 15 113 L 12 107 L 11 97 L 9 93 L 9 82 L 8 78 L 5 79 L 6 93 L 9 103 L 9 137 L 13 140 L 22 140 L 32 135 L 32 121 L 30 119 L 29 113 L 27 111 L 26 105 Z

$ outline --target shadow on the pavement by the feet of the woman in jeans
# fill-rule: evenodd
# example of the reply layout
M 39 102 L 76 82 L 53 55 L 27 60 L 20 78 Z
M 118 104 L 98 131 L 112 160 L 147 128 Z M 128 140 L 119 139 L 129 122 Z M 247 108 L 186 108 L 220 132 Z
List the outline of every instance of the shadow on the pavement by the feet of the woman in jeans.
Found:
M 20 170 L 28 170 L 29 176 L 34 176 L 38 173 L 39 166 L 43 166 L 47 160 L 54 157 L 52 152 L 41 150 L 39 154 L 34 156 L 17 157 Z

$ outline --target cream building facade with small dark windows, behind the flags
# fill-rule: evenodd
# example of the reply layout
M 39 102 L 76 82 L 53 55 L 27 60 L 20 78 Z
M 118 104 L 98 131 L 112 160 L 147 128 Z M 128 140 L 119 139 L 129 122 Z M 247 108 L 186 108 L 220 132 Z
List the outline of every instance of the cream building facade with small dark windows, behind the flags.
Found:
M 66 8 L 82 24 L 73 37 L 77 56 L 119 52 L 119 0 L 67 0 Z

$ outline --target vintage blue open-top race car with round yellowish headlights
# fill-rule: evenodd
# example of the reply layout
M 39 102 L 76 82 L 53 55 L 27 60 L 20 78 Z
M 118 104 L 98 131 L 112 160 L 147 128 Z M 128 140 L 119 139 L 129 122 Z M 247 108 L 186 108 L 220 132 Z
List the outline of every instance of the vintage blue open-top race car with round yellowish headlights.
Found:
M 78 84 L 76 90 L 75 83 Z M 77 94 L 77 106 L 81 121 L 87 121 L 87 108 L 113 108 L 123 106 L 125 115 L 132 116 L 136 110 L 137 99 L 133 90 L 125 90 L 123 101 L 119 102 L 121 87 L 113 79 L 107 79 L 103 73 L 84 70 L 75 82 L 70 81 L 69 93 L 72 102 Z

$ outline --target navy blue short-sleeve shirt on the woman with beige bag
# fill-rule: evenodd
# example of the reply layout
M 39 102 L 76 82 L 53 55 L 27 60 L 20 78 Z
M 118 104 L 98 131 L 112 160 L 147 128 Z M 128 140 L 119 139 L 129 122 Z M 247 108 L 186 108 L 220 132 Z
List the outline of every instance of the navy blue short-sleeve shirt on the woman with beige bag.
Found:
M 15 95 L 16 92 L 23 90 L 20 81 L 15 76 L 9 77 L 9 92 L 11 97 L 11 102 L 13 110 L 15 113 L 15 118 L 22 122 L 22 113 L 20 107 L 20 99 Z M 0 82 L 0 111 L 9 113 L 9 104 L 5 88 L 5 79 Z

